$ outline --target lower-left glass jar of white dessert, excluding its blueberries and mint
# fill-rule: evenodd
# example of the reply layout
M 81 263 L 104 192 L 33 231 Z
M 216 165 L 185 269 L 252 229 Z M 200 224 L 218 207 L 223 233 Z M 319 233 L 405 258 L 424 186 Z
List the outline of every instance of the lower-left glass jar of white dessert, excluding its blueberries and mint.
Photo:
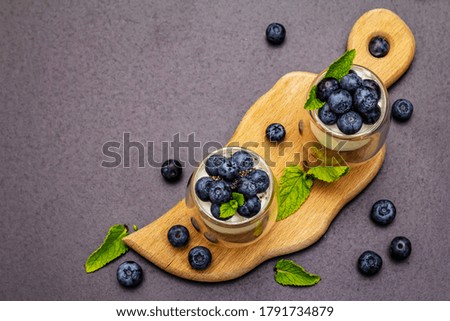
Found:
M 270 180 L 269 187 L 264 193 L 257 195 L 261 201 L 261 209 L 255 216 L 245 218 L 236 213 L 229 220 L 219 220 L 211 214 L 211 203 L 202 201 L 196 195 L 195 184 L 200 178 L 209 176 L 205 170 L 205 162 L 210 156 L 218 154 L 231 157 L 239 150 L 244 150 L 253 157 L 254 169 L 260 169 L 267 173 Z M 236 247 L 259 240 L 273 226 L 277 216 L 276 190 L 275 177 L 261 156 L 242 147 L 224 147 L 209 154 L 194 171 L 187 186 L 185 200 L 187 207 L 194 209 L 190 211 L 193 213 L 191 222 L 199 233 L 210 242 Z

